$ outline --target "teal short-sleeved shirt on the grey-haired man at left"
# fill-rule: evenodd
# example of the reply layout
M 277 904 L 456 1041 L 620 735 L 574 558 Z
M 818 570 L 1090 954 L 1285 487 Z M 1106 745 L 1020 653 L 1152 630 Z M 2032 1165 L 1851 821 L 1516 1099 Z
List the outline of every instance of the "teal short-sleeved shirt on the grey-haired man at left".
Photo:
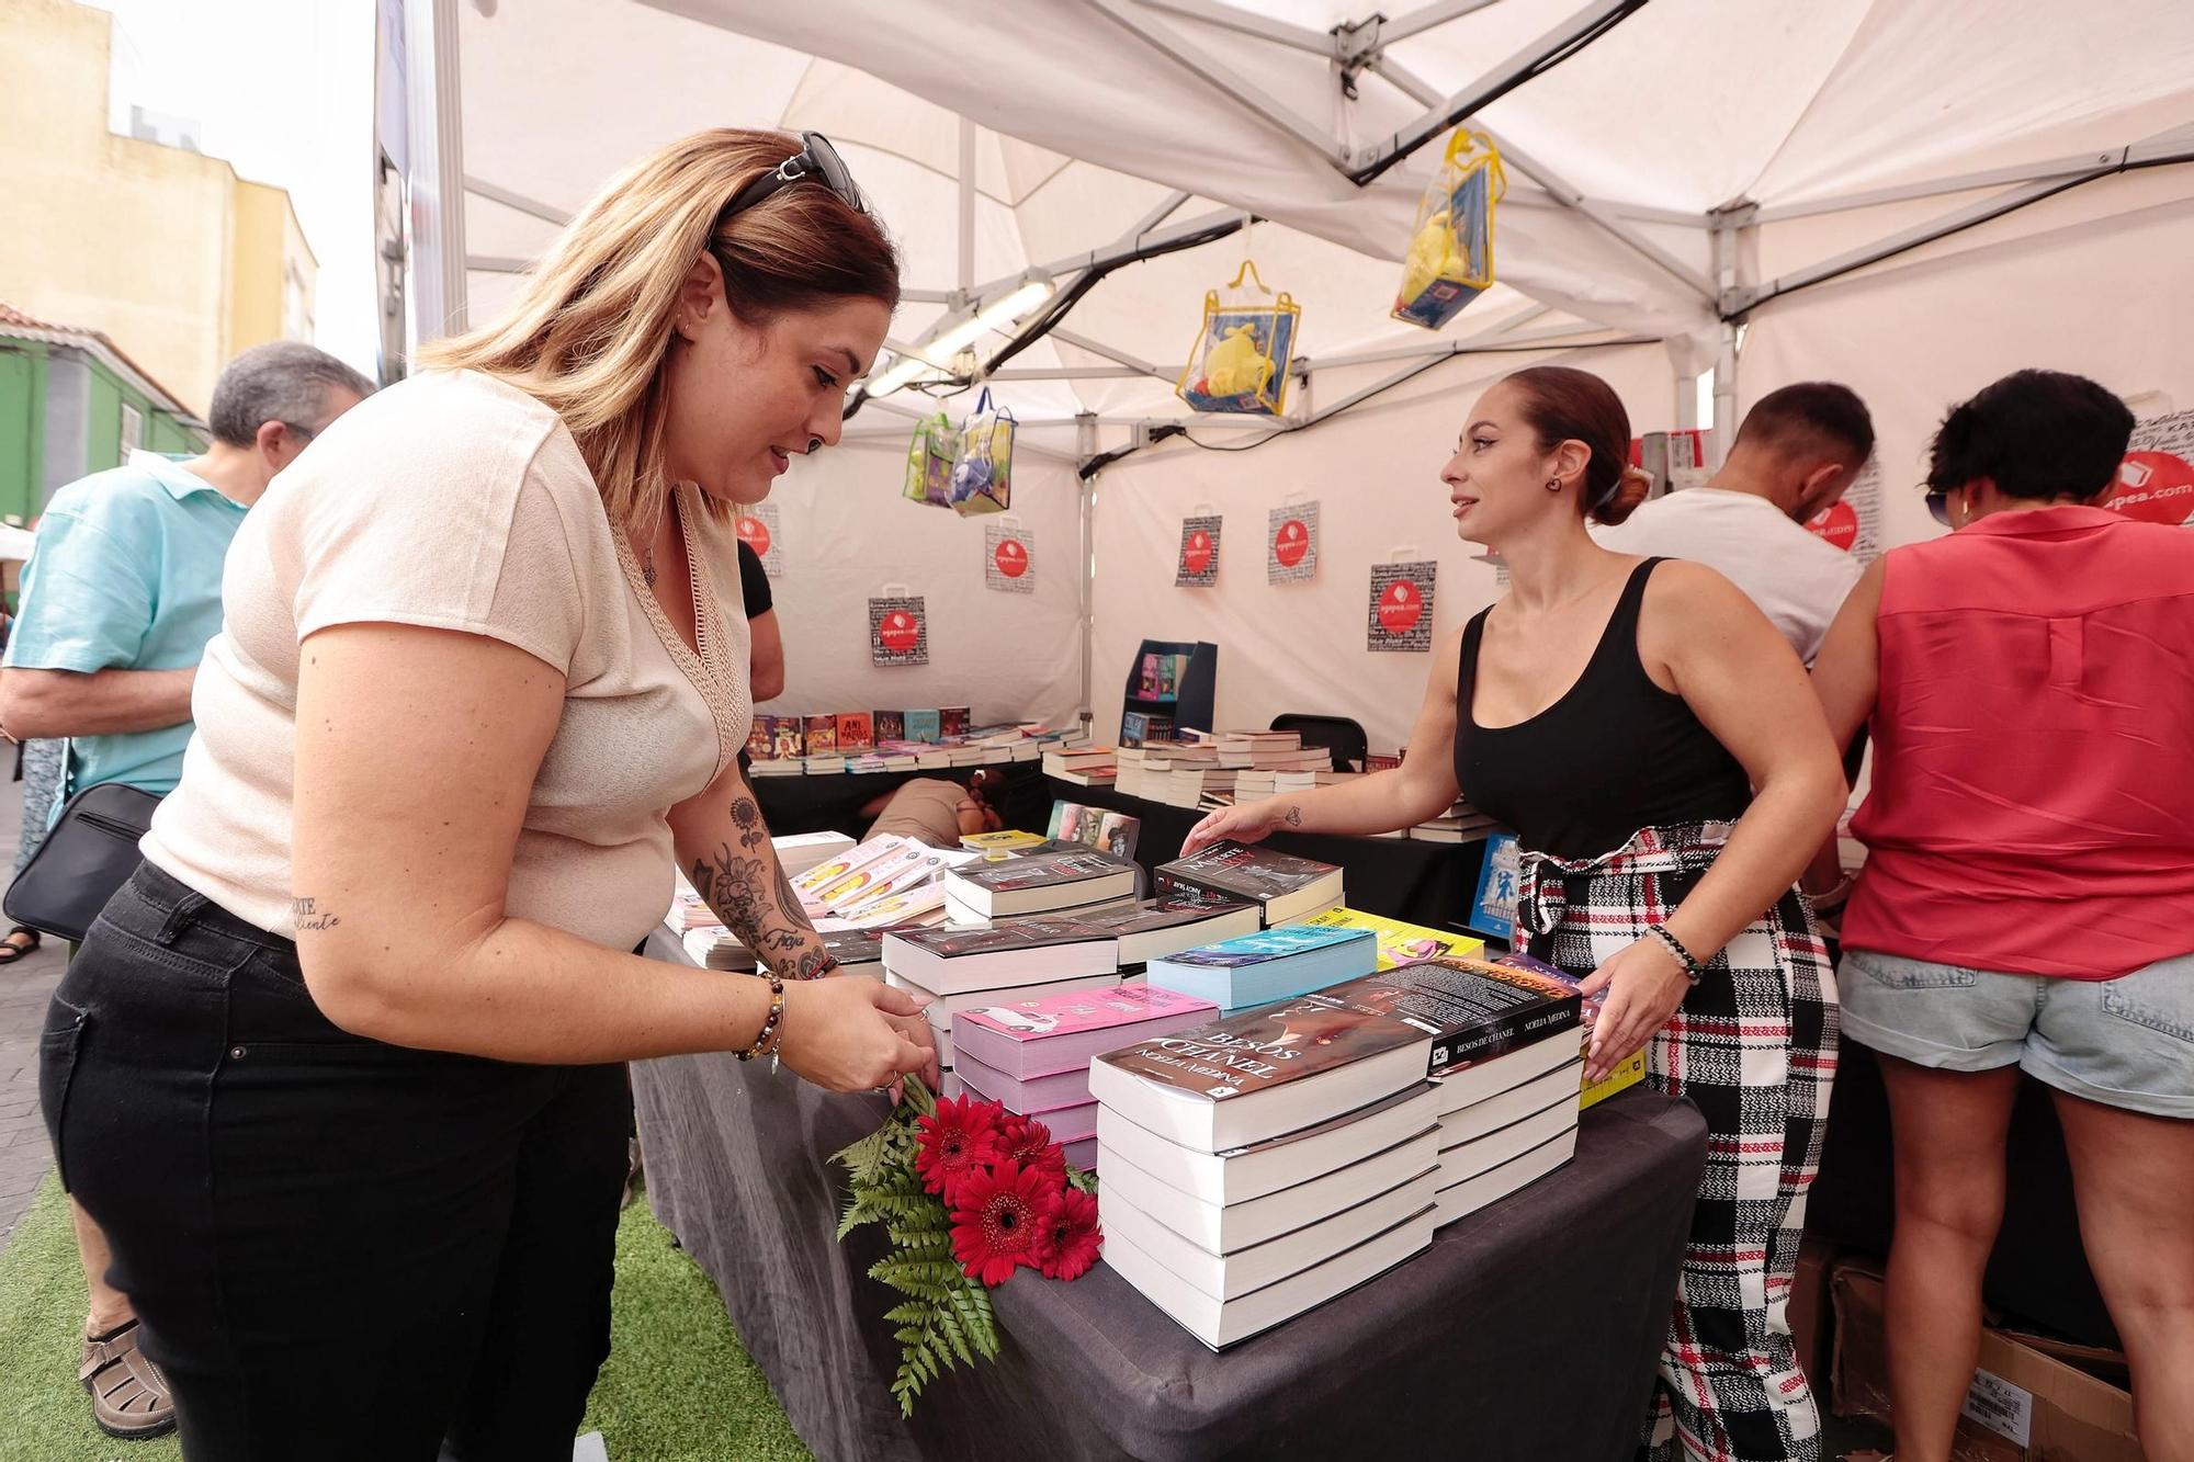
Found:
M 222 628 L 222 562 L 244 505 L 178 463 L 129 461 L 61 487 L 22 566 L 7 663 L 22 670 L 189 670 Z M 158 797 L 182 779 L 191 722 L 70 742 L 68 790 L 123 781 Z M 55 797 L 53 812 L 61 799 Z M 53 814 L 48 814 L 50 821 Z

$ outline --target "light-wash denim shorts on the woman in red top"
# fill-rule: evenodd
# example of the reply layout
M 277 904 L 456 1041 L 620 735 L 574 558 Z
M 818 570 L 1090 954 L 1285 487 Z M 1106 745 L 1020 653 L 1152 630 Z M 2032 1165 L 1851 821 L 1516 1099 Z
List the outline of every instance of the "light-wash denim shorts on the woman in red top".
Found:
M 2016 1062 L 2089 1102 L 2194 1117 L 2194 955 L 2058 979 L 1850 948 L 1841 990 L 1843 1032 L 1887 1056 L 1937 1071 Z

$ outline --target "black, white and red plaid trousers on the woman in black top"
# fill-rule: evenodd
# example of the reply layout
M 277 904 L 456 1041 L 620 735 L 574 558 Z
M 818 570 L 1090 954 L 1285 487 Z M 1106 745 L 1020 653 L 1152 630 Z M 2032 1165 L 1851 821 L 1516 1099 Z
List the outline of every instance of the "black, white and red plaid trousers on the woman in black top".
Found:
M 1646 828 L 1591 861 L 1523 856 L 1518 937 L 1591 975 L 1714 867 L 1729 823 Z M 1707 1172 L 1646 1416 L 1648 1462 L 1817 1462 L 1821 1416 L 1786 1306 L 1836 1073 L 1836 988 L 1790 889 L 1646 1043 L 1648 1078 L 1707 1117 Z

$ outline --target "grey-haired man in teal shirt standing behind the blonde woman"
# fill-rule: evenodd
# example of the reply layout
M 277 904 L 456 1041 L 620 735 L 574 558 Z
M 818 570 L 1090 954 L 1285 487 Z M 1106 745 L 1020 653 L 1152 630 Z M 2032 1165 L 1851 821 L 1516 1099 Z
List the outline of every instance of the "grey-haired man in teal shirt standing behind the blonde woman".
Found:
M 132 452 L 46 503 L 0 674 L 0 727 L 68 740 L 48 825 L 101 781 L 176 790 L 191 683 L 222 628 L 228 542 L 274 474 L 371 391 L 309 345 L 252 347 L 213 389 L 204 454 Z M 158 1436 L 176 1425 L 167 1381 L 136 1350 L 136 1311 L 108 1284 L 108 1240 L 81 1207 L 77 1251 L 92 1293 L 79 1372 L 92 1416 L 110 1436 Z

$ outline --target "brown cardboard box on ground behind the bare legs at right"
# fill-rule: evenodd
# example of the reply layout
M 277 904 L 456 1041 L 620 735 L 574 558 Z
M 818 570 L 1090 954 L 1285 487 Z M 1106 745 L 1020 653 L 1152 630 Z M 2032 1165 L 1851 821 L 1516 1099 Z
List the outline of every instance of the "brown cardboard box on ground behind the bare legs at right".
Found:
M 1834 1394 L 1839 1416 L 1889 1425 L 1889 1361 L 1882 1343 L 1882 1280 L 1863 1264 L 1836 1264 Z M 1950 1447 L 1953 1462 L 2146 1462 L 2133 1438 L 2133 1396 L 2025 1339 L 1981 1330 L 1981 1365 Z

